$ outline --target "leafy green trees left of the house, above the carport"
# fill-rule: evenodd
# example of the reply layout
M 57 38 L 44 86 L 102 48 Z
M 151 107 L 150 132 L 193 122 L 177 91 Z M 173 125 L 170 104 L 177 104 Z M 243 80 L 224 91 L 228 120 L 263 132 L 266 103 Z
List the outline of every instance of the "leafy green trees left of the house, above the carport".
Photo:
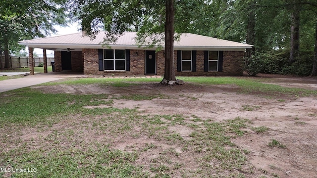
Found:
M 62 5 L 65 0 L 0 1 L 0 53 L 4 51 L 5 68 L 10 68 L 9 51 L 18 51 L 21 40 L 45 37 L 54 33 L 54 25 L 64 25 Z

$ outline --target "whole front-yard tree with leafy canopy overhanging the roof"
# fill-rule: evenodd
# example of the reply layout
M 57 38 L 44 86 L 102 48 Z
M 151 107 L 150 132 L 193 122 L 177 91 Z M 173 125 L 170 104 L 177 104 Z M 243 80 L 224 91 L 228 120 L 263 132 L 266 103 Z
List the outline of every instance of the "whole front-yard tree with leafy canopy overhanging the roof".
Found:
M 91 38 L 106 32 L 105 45 L 125 31 L 137 31 L 139 45 L 160 46 L 165 41 L 164 79 L 175 81 L 174 32 L 188 31 L 198 3 L 203 0 L 71 0 L 68 7 Z

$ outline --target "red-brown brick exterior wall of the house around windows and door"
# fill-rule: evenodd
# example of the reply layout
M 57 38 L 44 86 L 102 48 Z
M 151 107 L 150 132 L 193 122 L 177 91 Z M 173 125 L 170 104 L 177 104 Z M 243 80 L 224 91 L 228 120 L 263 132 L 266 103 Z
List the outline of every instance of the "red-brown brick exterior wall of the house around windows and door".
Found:
M 130 50 L 130 71 L 99 71 L 98 49 L 83 49 L 82 53 L 72 52 L 74 71 L 84 71 L 85 75 L 144 75 L 145 50 Z M 241 76 L 243 75 L 244 51 L 223 51 L 222 72 L 204 72 L 204 51 L 196 51 L 196 72 L 177 72 L 177 51 L 174 51 L 176 76 Z M 60 51 L 55 51 L 55 71 L 61 70 Z M 73 59 L 74 58 L 74 59 Z M 80 58 L 83 60 L 81 61 Z M 164 51 L 156 54 L 157 74 L 164 75 Z M 74 60 L 74 62 L 73 62 Z M 80 64 L 83 63 L 83 68 Z

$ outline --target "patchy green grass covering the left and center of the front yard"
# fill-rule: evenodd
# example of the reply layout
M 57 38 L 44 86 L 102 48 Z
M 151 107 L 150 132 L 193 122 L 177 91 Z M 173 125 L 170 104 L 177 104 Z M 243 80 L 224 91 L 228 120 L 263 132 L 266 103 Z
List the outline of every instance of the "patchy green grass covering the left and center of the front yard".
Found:
M 244 152 L 227 135 L 230 132 L 239 134 L 238 130 L 247 127 L 248 120 L 245 119 L 218 123 L 195 116 L 198 127 L 190 127 L 193 121 L 187 121 L 181 114 L 152 116 L 130 109 L 83 108 L 87 105 L 111 105 L 106 94 L 45 94 L 29 88 L 6 92 L 1 95 L 1 101 L 0 129 L 5 130 L 5 134 L 0 135 L 0 145 L 12 146 L 0 153 L 0 167 L 37 169 L 37 172 L 11 175 L 14 177 L 173 177 L 175 171 L 190 175 L 182 166 L 185 155 L 172 145 L 190 154 L 202 154 L 195 163 L 199 168 L 195 171 L 198 177 L 223 170 L 239 170 L 246 164 Z M 67 126 L 53 127 L 58 123 Z M 190 139 L 184 139 L 170 127 L 190 128 Z M 23 128 L 35 129 L 39 135 L 49 134 L 24 140 L 19 138 L 23 135 Z M 106 137 L 97 141 L 94 137 L 98 135 Z M 162 149 L 149 143 L 144 146 L 136 144 L 131 151 L 113 149 L 112 144 L 121 135 L 132 138 L 147 135 L 169 146 Z M 149 160 L 150 167 L 136 163 L 143 153 L 153 150 L 159 150 L 159 155 Z M 219 167 L 205 170 L 212 160 L 217 160 Z

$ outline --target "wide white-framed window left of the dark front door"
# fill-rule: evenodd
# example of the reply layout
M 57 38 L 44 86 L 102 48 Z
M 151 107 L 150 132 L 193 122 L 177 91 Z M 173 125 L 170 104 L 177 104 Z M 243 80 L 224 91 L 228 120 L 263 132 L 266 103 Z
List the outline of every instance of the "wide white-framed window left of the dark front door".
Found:
M 125 50 L 104 49 L 104 70 L 125 71 Z

